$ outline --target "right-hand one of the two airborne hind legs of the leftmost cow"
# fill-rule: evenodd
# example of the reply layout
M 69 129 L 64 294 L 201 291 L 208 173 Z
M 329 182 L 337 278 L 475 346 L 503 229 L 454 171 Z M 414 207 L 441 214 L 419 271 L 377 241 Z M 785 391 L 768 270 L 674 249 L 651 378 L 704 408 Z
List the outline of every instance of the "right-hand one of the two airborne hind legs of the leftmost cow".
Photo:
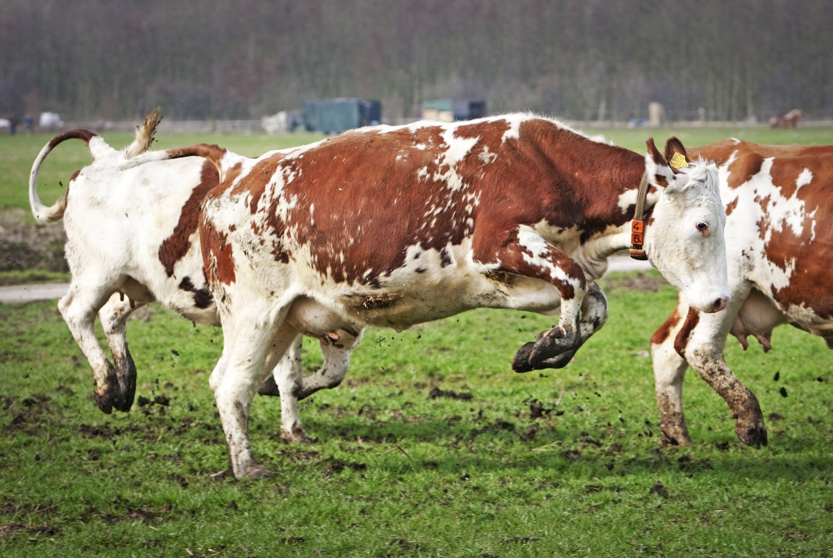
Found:
M 132 302 L 127 296 L 117 292 L 110 296 L 107 304 L 98 311 L 98 319 L 102 322 L 104 335 L 107 336 L 107 343 L 110 345 L 121 391 L 121 396 L 113 404 L 117 411 L 130 411 L 136 397 L 136 364 L 127 347 L 127 318 L 132 311 L 145 304 Z

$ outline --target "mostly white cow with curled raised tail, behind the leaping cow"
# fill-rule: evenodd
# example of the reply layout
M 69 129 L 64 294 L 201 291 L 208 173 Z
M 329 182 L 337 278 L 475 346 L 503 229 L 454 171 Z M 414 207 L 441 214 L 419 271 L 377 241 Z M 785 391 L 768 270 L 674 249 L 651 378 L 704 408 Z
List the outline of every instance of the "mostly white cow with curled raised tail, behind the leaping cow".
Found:
M 160 301 L 192 321 L 219 325 L 217 306 L 207 289 L 197 232 L 197 208 L 217 186 L 217 169 L 199 157 L 137 166 L 133 157 L 147 151 L 161 119 L 147 116 L 136 139 L 117 152 L 102 137 L 72 130 L 52 138 L 32 165 L 29 201 L 38 222 L 64 219 L 66 255 L 72 282 L 58 307 L 72 336 L 92 366 L 97 406 L 109 413 L 129 411 L 136 391 L 136 366 L 127 347 L 125 324 L 137 307 Z M 87 143 L 92 164 L 76 172 L 67 194 L 52 207 L 37 196 L 37 175 L 52 149 L 68 139 Z M 112 352 L 111 364 L 93 332 L 96 313 Z M 278 363 L 301 374 L 298 335 Z M 302 390 L 287 397 L 302 399 L 323 387 L 334 387 L 347 372 L 350 353 L 340 343 L 322 340 L 324 365 L 304 378 Z M 273 385 L 273 383 L 272 383 Z M 263 392 L 278 395 L 274 389 Z M 304 440 L 297 403 L 282 416 L 282 436 Z

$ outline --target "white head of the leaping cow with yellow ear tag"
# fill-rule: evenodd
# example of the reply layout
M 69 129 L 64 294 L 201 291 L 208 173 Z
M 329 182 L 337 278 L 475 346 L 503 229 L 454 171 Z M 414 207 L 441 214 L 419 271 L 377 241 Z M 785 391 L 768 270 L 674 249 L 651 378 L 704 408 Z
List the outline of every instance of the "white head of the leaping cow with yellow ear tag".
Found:
M 651 264 L 676 286 L 696 310 L 726 307 L 726 210 L 714 163 L 689 161 L 686 148 L 672 137 L 663 156 L 648 142 L 648 181 L 659 192 L 644 247 Z

